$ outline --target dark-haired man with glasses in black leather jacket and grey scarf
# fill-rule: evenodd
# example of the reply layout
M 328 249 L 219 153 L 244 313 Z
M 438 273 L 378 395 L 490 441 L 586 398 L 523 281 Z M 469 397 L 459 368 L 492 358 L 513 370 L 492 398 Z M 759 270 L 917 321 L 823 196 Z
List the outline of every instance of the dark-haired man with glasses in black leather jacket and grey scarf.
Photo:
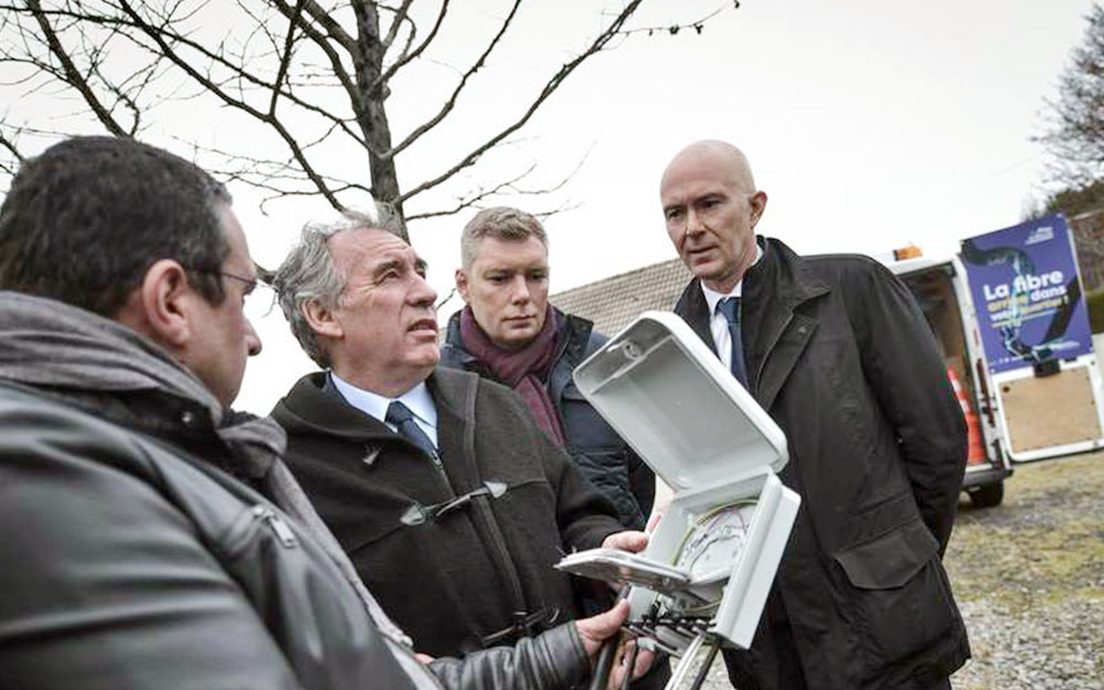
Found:
M 566 690 L 625 606 L 425 666 L 236 414 L 261 341 L 225 189 L 83 137 L 0 206 L 0 687 Z

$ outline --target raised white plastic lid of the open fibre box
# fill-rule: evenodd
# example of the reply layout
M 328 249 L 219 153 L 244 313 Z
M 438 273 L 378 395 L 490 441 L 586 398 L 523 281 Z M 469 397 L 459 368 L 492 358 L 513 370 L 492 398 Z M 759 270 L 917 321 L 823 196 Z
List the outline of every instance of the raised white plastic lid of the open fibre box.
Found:
M 782 429 L 675 314 L 644 312 L 573 378 L 676 492 L 786 465 Z

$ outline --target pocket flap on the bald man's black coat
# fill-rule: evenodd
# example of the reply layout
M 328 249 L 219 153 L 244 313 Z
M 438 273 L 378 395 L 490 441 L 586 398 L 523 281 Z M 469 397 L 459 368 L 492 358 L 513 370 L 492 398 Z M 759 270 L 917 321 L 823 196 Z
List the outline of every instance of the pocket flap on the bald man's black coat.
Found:
M 940 544 L 927 527 L 913 520 L 877 539 L 836 554 L 851 584 L 861 590 L 900 587 L 920 572 Z

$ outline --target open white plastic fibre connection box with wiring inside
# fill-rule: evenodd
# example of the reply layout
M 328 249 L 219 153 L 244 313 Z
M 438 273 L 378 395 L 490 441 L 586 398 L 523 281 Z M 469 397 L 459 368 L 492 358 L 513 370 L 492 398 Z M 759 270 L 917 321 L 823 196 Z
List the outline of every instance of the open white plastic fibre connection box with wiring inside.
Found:
M 641 315 L 574 379 L 673 498 L 643 553 L 595 549 L 556 567 L 633 585 L 629 629 L 671 654 L 704 635 L 747 648 L 800 503 L 775 475 L 782 431 L 670 312 Z

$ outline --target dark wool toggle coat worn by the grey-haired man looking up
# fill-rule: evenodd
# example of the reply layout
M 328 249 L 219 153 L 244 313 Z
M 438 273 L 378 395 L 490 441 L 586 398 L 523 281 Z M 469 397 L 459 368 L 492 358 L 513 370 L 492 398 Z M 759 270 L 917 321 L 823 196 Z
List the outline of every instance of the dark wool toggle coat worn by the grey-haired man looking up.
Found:
M 552 565 L 623 528 L 519 395 L 437 369 L 438 466 L 326 379 L 305 376 L 273 411 L 287 464 L 415 648 L 456 655 L 575 617 Z

